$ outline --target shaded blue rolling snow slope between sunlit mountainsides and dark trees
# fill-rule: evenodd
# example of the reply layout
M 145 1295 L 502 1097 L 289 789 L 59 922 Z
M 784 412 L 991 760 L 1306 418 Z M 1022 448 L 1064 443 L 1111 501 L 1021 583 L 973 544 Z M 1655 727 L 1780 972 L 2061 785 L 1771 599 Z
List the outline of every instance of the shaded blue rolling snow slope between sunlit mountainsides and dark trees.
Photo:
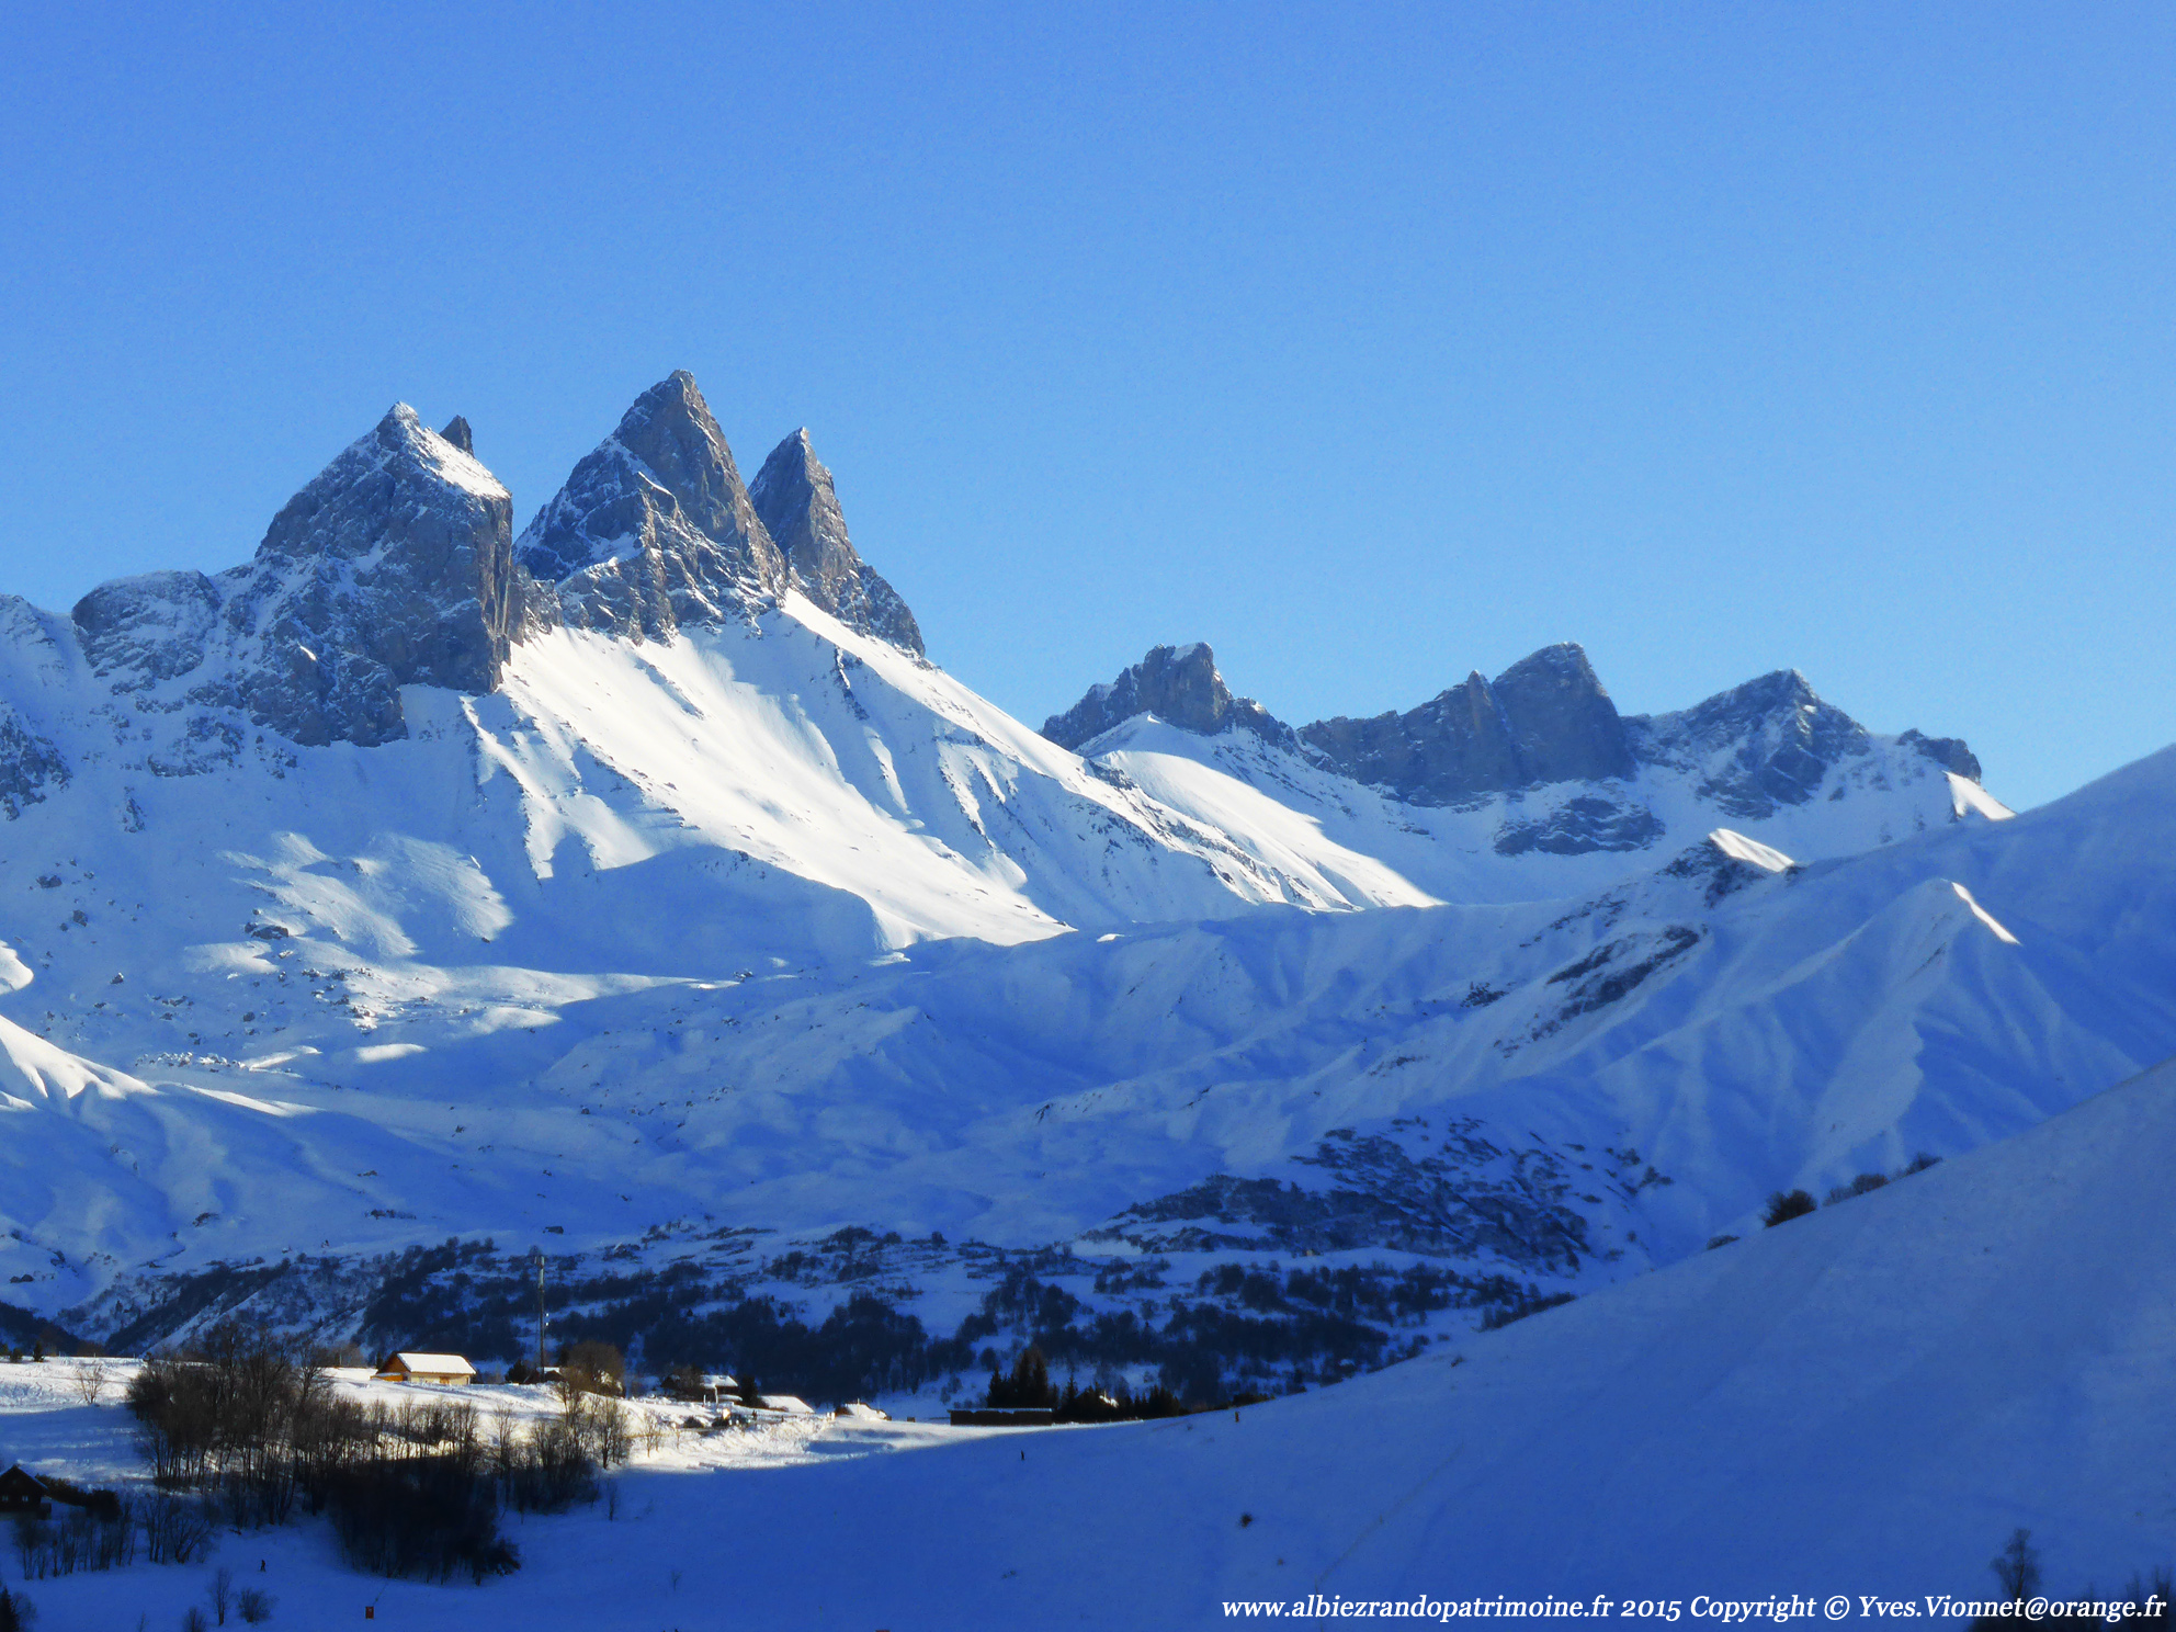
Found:
M 154 1110 L 124 1101 L 96 1138 L 22 1123 L 50 1173 L 98 1184 L 111 1145 L 194 1149 L 200 1177 L 98 1221 L 20 1203 L 7 1266 L 33 1277 L 17 1301 L 61 1306 L 152 1258 L 546 1227 L 594 1253 L 694 1219 L 685 1240 L 1393 1251 L 1588 1286 L 1743 1232 L 1773 1188 L 1978 1147 L 2165 1055 L 2172 783 L 2176 753 L 1815 868 L 1721 833 L 1573 905 L 1260 907 L 611 990 L 529 975 L 496 1005 L 372 992 L 361 1047 L 337 1014 L 316 1036 L 344 1049 L 141 1071 Z M 252 1001 L 279 951 L 331 951 L 289 940 L 235 970 Z M 949 1299 L 949 1273 L 916 1277 Z

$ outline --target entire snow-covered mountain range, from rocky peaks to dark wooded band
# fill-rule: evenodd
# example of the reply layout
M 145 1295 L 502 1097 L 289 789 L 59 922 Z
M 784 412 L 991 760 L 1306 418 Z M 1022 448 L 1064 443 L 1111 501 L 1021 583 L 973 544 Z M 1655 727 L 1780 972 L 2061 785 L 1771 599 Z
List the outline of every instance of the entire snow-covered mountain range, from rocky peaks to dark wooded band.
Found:
M 0 1273 L 102 1332 L 542 1232 L 812 1319 L 1018 1249 L 1525 1297 L 2176 1049 L 2165 759 L 2011 820 L 1797 675 L 1623 718 L 1575 646 L 1301 729 L 1160 648 L 1038 733 L 685 374 L 520 537 L 394 409 L 248 566 L 0 603 Z

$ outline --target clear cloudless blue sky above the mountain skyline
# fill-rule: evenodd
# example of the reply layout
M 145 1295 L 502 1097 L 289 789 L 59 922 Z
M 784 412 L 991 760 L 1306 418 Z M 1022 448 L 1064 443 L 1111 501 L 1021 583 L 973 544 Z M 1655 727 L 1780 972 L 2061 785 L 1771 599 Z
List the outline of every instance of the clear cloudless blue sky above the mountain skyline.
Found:
M 396 398 L 516 524 L 701 381 L 1027 720 L 1586 644 L 2052 799 L 2176 740 L 2176 7 L 7 7 L 0 590 Z

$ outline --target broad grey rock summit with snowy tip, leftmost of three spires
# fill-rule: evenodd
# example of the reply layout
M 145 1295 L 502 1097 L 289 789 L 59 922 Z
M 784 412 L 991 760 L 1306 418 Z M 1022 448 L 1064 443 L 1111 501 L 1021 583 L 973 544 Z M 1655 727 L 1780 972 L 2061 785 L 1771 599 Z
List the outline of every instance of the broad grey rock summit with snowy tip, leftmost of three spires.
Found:
M 287 500 L 250 566 L 220 574 L 242 705 L 292 742 L 372 744 L 407 735 L 403 685 L 492 690 L 509 533 L 498 479 L 396 403 Z M 161 592 L 183 590 L 202 598 L 200 581 Z

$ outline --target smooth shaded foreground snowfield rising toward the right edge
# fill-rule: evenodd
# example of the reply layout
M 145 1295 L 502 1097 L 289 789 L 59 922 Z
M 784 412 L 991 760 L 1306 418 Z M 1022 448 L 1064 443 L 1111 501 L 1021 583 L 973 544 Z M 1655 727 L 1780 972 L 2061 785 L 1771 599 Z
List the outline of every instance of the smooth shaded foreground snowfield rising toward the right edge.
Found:
M 1225 1599 L 1985 1599 L 2176 1556 L 2176 1071 L 1456 1351 L 1236 1417 L 688 1436 L 505 1582 L 228 1536 L 281 1621 L 409 1628 L 1184 1628 Z M 128 1469 L 118 1406 L 0 1369 L 0 1454 Z M 398 1390 L 394 1390 L 398 1393 Z M 527 1393 L 527 1390 L 479 1390 Z M 529 1408 L 546 1408 L 535 1399 Z M 46 1582 L 48 1632 L 178 1619 L 205 1569 Z

